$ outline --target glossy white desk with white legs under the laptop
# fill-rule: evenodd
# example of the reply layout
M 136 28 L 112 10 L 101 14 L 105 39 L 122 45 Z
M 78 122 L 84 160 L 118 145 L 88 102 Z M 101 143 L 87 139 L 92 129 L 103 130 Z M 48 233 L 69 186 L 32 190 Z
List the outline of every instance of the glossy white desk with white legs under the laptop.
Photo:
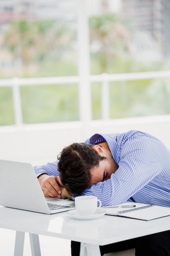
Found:
M 99 245 L 170 230 L 170 216 L 144 221 L 104 215 L 82 221 L 68 217 L 66 212 L 47 215 L 0 207 L 0 227 L 17 231 L 15 256 L 23 254 L 25 232 L 30 235 L 33 256 L 41 255 L 38 234 L 81 242 L 81 256 L 100 256 Z

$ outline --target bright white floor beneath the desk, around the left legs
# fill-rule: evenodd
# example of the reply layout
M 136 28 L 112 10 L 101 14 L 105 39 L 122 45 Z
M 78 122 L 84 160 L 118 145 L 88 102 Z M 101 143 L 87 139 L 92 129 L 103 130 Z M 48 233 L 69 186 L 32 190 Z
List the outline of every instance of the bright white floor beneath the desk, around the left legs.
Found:
M 39 236 L 42 256 L 71 256 L 70 240 Z M 13 256 L 15 231 L 0 229 L 0 256 Z M 29 234 L 25 235 L 24 254 L 31 256 Z

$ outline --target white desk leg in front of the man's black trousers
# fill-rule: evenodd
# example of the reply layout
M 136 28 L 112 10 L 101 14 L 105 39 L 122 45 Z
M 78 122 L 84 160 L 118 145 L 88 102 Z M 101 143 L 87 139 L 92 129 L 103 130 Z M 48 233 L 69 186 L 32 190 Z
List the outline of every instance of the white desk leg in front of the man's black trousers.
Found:
M 81 243 L 80 256 L 101 256 L 99 245 Z

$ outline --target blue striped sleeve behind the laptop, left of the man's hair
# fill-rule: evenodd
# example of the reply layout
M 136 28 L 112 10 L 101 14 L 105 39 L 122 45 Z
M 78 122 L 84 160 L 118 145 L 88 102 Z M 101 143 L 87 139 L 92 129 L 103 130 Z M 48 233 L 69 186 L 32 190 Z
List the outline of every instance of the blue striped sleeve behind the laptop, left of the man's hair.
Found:
M 46 173 L 48 175 L 59 176 L 59 171 L 57 170 L 57 166 L 58 166 L 58 160 L 52 163 L 47 163 L 42 166 L 34 166 L 34 171 L 37 177 L 43 173 Z

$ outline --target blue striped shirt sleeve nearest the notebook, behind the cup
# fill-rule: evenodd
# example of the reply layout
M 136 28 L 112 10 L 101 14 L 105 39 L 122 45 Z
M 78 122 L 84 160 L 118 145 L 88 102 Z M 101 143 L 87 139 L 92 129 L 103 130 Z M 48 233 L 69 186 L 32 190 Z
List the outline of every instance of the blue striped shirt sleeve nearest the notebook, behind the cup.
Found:
M 115 205 L 128 199 L 148 184 L 161 171 L 159 157 L 145 140 L 126 143 L 119 156 L 119 168 L 110 179 L 99 182 L 83 195 L 95 195 L 102 205 Z

